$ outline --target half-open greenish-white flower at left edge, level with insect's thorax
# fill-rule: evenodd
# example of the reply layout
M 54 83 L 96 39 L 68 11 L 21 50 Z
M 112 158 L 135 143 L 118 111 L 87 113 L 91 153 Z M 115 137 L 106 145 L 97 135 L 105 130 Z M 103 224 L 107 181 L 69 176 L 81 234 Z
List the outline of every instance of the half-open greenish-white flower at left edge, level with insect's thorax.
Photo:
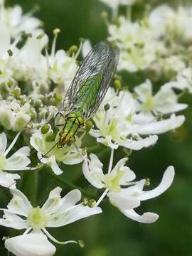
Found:
M 2 100 L 0 102 L 1 125 L 14 132 L 22 131 L 31 119 L 29 114 L 30 107 L 29 103 L 21 107 L 16 101 L 8 102 Z

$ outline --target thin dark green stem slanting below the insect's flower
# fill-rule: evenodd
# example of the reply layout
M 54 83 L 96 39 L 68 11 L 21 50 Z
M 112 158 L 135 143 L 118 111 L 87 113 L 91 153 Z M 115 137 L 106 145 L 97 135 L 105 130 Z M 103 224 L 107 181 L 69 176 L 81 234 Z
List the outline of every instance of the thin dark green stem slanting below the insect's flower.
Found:
M 60 182 L 61 184 L 65 185 L 65 186 L 68 186 L 68 188 L 71 188 L 71 189 L 78 189 L 78 190 L 81 191 L 81 193 L 82 193 L 84 196 L 87 196 L 88 198 L 92 198 L 92 199 L 95 198 L 95 194 L 94 194 L 94 193 L 87 192 L 87 191 L 85 191 L 84 189 L 80 188 L 79 186 L 76 186 L 75 184 L 71 183 L 70 181 L 67 181 L 67 180 L 65 180 L 64 178 L 61 178 L 61 177 L 58 176 L 58 175 L 55 175 L 55 174 L 53 173 L 53 171 L 51 171 L 50 169 L 48 170 L 48 174 L 50 174 L 50 176 L 52 176 L 53 178 L 55 178 L 56 181 Z

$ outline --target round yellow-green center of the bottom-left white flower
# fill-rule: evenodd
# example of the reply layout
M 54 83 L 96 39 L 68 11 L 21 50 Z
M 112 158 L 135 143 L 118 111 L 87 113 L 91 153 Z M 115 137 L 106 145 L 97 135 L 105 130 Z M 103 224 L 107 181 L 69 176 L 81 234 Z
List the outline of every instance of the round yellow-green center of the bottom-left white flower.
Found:
M 41 230 L 41 228 L 46 227 L 47 222 L 48 218 L 46 216 L 46 212 L 39 206 L 29 211 L 28 224 L 33 228 L 33 230 Z

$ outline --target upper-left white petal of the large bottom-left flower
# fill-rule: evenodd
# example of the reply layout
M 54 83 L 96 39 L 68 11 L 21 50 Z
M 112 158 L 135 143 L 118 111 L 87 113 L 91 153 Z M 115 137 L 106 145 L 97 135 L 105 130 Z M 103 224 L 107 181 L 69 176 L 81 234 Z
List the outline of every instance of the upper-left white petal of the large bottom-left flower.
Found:
M 28 198 L 26 198 L 26 196 L 18 189 L 11 189 L 11 194 L 13 195 L 13 198 L 9 202 L 7 208 L 11 213 L 27 216 L 28 211 L 33 208 L 28 201 Z

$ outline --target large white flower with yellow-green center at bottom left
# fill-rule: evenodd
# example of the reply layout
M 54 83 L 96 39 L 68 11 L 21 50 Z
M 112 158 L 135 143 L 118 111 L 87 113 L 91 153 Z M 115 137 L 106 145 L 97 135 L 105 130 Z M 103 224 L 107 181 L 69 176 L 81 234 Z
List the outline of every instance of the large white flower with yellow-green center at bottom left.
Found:
M 21 191 L 11 189 L 13 198 L 6 209 L 1 209 L 4 210 L 4 216 L 0 219 L 0 225 L 17 230 L 26 229 L 26 232 L 6 240 L 5 245 L 10 252 L 18 256 L 53 255 L 55 247 L 48 242 L 46 236 L 60 244 L 78 242 L 73 240 L 59 242 L 48 233 L 46 228 L 68 225 L 90 215 L 102 213 L 100 207 L 90 208 L 82 203 L 76 205 L 81 198 L 81 193 L 77 189 L 70 191 L 63 198 L 60 196 L 61 191 L 59 187 L 53 189 L 42 207 L 33 208 Z

